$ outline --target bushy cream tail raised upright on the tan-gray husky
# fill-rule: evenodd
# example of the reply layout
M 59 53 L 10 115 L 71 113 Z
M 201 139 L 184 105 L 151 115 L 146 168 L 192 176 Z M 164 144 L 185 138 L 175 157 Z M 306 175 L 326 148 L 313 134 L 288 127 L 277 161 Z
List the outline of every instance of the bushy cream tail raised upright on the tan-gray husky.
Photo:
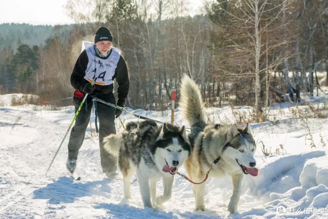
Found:
M 200 90 L 195 81 L 186 74 L 183 75 L 181 80 L 178 108 L 182 111 L 183 117 L 191 127 L 205 127 L 206 114 Z

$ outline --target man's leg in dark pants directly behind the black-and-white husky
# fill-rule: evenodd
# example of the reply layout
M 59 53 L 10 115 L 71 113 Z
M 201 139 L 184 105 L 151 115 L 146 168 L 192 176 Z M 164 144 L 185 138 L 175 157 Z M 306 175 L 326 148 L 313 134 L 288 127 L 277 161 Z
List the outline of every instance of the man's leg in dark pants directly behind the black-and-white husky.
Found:
M 114 95 L 103 98 L 104 101 L 115 103 Z M 97 113 L 99 118 L 99 149 L 100 160 L 103 172 L 109 177 L 115 176 L 117 170 L 117 158 L 104 149 L 103 138 L 109 134 L 116 134 L 115 129 L 115 108 L 101 102 L 97 102 Z

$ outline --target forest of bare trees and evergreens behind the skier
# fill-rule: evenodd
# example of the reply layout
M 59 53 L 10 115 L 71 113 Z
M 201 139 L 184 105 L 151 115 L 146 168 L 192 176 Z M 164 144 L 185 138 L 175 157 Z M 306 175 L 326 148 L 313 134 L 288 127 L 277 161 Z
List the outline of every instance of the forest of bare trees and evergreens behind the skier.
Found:
M 79 11 L 82 5 L 90 12 Z M 322 92 L 327 1 L 216 0 L 204 9 L 190 16 L 184 0 L 69 0 L 74 25 L 2 24 L 0 92 L 71 104 L 70 76 L 82 40 L 93 41 L 102 25 L 128 64 L 126 106 L 133 109 L 168 109 L 184 73 L 199 84 L 207 107 L 249 105 L 257 121 L 275 102 Z

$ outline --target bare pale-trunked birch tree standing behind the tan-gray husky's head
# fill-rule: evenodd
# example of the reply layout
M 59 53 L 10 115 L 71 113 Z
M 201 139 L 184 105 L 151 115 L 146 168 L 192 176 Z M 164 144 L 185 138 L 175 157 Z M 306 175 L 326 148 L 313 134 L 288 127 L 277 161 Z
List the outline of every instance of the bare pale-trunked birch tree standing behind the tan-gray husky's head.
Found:
M 219 1 L 218 1 L 219 2 Z M 230 2 L 230 1 L 229 1 Z M 273 27 L 273 24 L 278 22 L 278 18 L 282 16 L 282 3 L 287 6 L 286 0 L 282 1 L 269 1 L 269 0 L 242 0 L 232 1 L 226 3 L 226 1 L 220 0 L 220 6 L 218 10 L 222 10 L 227 13 L 231 19 L 234 20 L 236 34 L 238 37 L 230 40 L 231 45 L 229 51 L 235 62 L 243 66 L 240 72 L 243 74 L 249 74 L 254 78 L 254 90 L 255 90 L 255 103 L 254 108 L 258 119 L 262 120 L 262 101 L 261 101 L 261 74 L 265 72 L 267 68 L 264 68 L 265 62 L 263 62 L 263 56 L 267 53 L 262 42 L 263 35 L 266 31 L 274 33 L 278 28 Z M 226 4 L 230 4 L 231 7 L 235 7 L 233 12 L 227 10 L 227 7 L 223 7 Z M 285 41 L 277 41 L 270 43 L 268 50 L 272 51 L 277 47 L 281 47 L 285 44 Z M 251 57 L 251 58 L 250 58 Z M 265 60 L 265 59 L 264 59 Z M 281 54 L 275 56 L 275 60 L 270 62 L 271 67 L 280 64 Z M 250 71 L 250 72 L 247 72 Z

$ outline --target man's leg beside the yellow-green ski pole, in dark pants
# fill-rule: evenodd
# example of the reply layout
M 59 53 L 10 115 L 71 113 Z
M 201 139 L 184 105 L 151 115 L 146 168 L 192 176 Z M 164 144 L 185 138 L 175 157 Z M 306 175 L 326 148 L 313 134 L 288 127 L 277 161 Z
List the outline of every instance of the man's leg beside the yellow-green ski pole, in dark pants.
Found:
M 75 119 L 75 125 L 72 127 L 72 131 L 70 134 L 70 141 L 68 142 L 68 158 L 66 167 L 69 171 L 74 172 L 76 167 L 77 155 L 79 153 L 79 149 L 82 146 L 85 131 L 88 126 L 88 122 L 90 120 L 91 110 L 92 110 L 92 101 L 91 97 L 87 97 L 83 106 L 81 107 L 80 112 L 78 113 Z M 73 105 L 75 107 L 75 113 L 77 112 L 83 98 L 73 98 Z M 87 104 L 87 108 L 85 107 Z

